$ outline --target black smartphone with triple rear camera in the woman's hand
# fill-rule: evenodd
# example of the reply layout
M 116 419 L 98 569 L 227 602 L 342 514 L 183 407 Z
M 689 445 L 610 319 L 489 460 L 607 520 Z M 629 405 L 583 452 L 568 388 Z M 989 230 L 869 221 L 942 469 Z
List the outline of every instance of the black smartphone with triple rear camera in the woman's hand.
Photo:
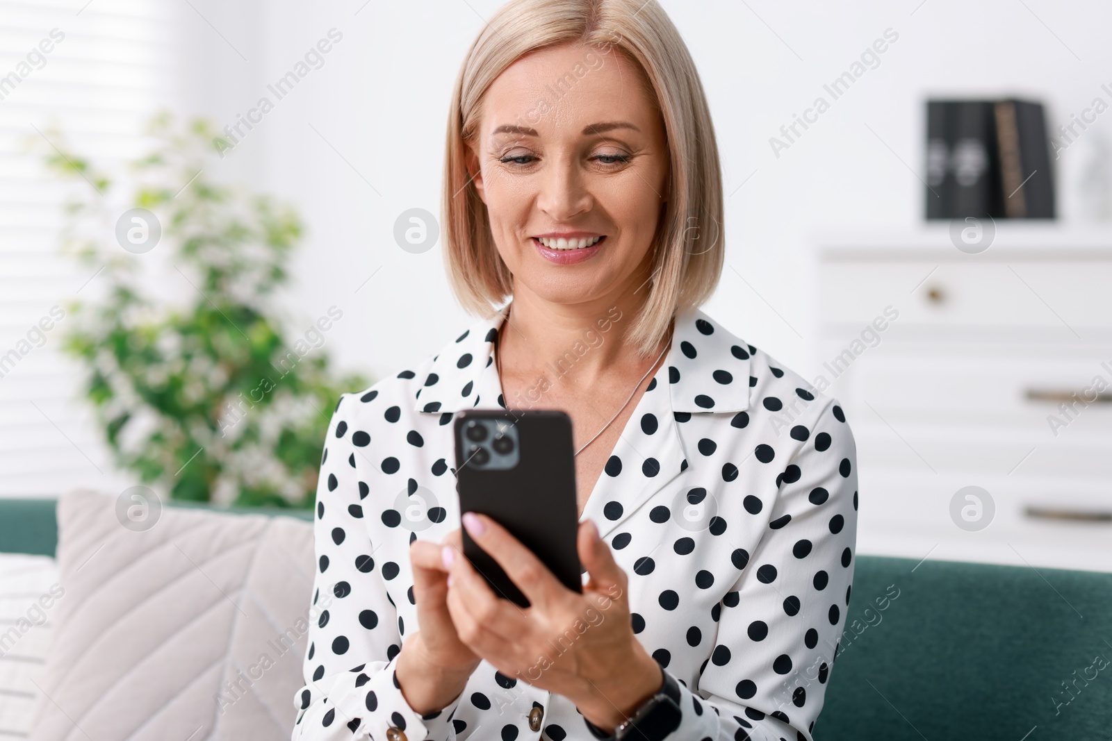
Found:
M 455 418 L 459 513 L 486 514 L 532 550 L 570 590 L 583 592 L 576 550 L 572 419 L 558 410 L 469 409 Z M 464 555 L 495 594 L 529 601 L 463 529 Z

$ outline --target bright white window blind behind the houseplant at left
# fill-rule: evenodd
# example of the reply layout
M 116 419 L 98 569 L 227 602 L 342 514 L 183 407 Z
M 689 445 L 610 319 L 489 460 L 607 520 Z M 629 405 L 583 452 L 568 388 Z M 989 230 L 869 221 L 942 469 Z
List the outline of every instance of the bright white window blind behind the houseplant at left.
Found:
M 0 497 L 135 483 L 115 471 L 80 368 L 59 351 L 67 319 L 52 308 L 86 298 L 95 271 L 59 252 L 73 186 L 43 167 L 39 132 L 57 124 L 108 166 L 140 153 L 143 124 L 175 98 L 179 4 L 0 0 Z

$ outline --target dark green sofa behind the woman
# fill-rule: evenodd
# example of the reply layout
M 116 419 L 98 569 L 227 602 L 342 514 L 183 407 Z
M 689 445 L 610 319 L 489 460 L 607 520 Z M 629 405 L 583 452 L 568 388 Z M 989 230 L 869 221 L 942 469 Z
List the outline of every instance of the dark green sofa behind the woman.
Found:
M 56 545 L 53 500 L 0 499 L 0 551 Z M 1110 738 L 1112 574 L 862 555 L 835 664 L 818 741 Z

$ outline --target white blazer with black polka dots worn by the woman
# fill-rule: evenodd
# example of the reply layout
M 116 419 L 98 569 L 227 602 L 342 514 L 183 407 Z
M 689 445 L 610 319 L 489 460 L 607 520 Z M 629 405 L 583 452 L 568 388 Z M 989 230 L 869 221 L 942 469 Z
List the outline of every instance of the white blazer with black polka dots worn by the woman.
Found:
M 394 675 L 418 629 L 409 542 L 459 527 L 453 413 L 503 402 L 502 321 L 336 405 L 295 740 L 594 739 L 573 702 L 485 661 L 425 717 Z M 810 741 L 850 603 L 856 489 L 836 400 L 703 311 L 676 317 L 583 512 L 629 574 L 634 632 L 681 683 L 669 741 Z

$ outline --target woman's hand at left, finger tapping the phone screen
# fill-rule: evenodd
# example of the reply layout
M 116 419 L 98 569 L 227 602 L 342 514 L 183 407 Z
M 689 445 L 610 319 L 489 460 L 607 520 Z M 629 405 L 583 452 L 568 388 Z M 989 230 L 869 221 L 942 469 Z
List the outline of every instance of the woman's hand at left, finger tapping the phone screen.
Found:
M 481 661 L 459 640 L 448 613 L 449 569 L 444 562 L 445 548 L 455 558 L 464 558 L 459 529 L 440 543 L 415 540 L 409 544 L 418 631 L 403 643 L 396 671 L 406 702 L 421 715 L 455 700 Z

